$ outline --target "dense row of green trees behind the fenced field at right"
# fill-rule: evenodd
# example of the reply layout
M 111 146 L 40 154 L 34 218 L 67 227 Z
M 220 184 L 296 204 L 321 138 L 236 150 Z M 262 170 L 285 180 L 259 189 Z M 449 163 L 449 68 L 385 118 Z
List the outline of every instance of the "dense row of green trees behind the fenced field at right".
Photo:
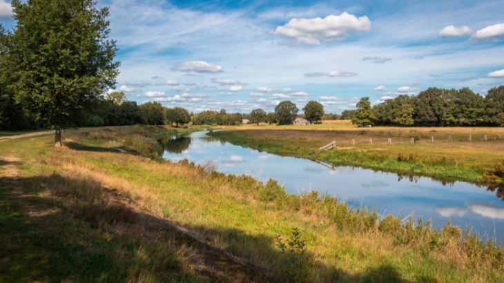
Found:
M 504 86 L 492 88 L 486 97 L 469 88 L 428 88 L 418 95 L 399 95 L 373 107 L 369 97 L 364 97 L 357 108 L 352 113 L 353 124 L 504 126 Z

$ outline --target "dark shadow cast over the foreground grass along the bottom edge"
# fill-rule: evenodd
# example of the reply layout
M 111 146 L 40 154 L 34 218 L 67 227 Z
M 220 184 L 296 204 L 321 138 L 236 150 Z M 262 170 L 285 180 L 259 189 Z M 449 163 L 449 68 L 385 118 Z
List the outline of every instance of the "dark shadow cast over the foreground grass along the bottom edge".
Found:
M 21 200 L 12 193 L 12 182 L 25 185 L 29 195 Z M 220 237 L 228 247 L 222 251 L 165 219 L 121 202 L 111 205 L 111 199 L 110 190 L 94 179 L 59 174 L 0 178 L 0 282 L 286 281 L 282 253 L 267 235 L 194 227 L 204 237 Z M 253 259 L 230 253 L 270 266 L 258 267 L 250 263 Z M 327 271 L 327 282 L 412 283 L 389 264 L 357 274 L 320 262 L 316 269 Z

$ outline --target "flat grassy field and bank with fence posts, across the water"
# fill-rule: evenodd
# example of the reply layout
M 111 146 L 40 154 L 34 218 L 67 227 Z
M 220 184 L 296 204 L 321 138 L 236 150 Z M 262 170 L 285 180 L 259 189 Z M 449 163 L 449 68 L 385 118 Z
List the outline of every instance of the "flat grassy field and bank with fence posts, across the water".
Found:
M 211 135 L 268 153 L 312 157 L 335 165 L 488 182 L 502 182 L 504 177 L 504 139 L 498 139 L 502 128 L 304 127 L 247 126 Z M 336 141 L 335 149 L 308 155 L 332 141 Z

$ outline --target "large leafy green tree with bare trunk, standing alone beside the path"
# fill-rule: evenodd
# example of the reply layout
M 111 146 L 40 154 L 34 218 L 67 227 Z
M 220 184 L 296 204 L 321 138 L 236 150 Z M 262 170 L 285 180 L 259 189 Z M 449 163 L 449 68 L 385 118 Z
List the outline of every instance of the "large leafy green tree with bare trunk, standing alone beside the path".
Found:
M 17 21 L 8 46 L 10 85 L 15 99 L 39 123 L 61 129 L 76 126 L 107 88 L 115 86 L 119 62 L 108 8 L 92 0 L 30 0 L 10 3 Z

